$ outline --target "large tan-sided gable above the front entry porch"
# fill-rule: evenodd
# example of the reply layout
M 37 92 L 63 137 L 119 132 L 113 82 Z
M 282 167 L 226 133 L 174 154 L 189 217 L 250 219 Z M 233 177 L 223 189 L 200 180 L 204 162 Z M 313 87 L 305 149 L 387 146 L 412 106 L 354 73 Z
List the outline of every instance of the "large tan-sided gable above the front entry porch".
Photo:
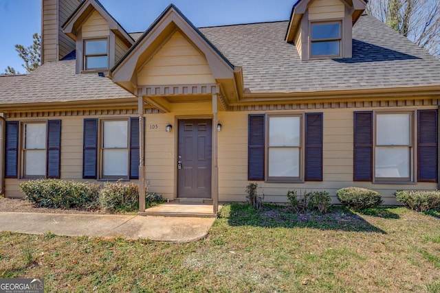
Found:
M 159 51 L 160 54 L 157 54 Z M 166 58 L 159 59 L 161 56 Z M 138 80 L 137 73 L 140 73 L 141 80 Z M 241 67 L 234 67 L 175 5 L 170 4 L 111 69 L 111 78 L 131 93 L 137 86 L 146 85 L 144 83 L 221 83 L 231 99 L 236 99 L 236 78 L 241 78 Z

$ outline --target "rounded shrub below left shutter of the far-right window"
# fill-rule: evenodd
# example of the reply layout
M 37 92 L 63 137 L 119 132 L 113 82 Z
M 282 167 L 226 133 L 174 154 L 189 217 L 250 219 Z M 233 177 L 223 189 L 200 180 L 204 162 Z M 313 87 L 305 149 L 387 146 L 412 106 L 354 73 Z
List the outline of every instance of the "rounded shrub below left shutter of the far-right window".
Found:
M 383 202 L 380 193 L 360 187 L 341 188 L 336 191 L 336 196 L 341 204 L 353 209 L 379 207 Z

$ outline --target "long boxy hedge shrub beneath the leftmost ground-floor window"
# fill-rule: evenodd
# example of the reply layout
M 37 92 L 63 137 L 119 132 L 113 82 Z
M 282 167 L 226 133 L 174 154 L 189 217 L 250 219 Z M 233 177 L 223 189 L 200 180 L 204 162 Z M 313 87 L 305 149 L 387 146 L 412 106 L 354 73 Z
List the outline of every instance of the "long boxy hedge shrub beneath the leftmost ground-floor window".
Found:
M 101 185 L 67 180 L 39 179 L 20 184 L 25 199 L 36 207 L 94 209 Z

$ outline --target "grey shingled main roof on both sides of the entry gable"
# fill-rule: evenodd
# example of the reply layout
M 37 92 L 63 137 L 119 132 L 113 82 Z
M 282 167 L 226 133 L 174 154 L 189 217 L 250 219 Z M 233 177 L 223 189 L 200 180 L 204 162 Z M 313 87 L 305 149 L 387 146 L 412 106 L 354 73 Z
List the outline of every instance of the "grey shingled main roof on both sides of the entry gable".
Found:
M 232 64 L 243 67 L 246 93 L 440 85 L 439 60 L 371 16 L 362 16 L 353 27 L 353 58 L 301 61 L 296 47 L 284 40 L 287 25 L 280 21 L 199 30 Z M 75 60 L 0 77 L 0 89 L 3 105 L 135 98 L 109 78 L 76 74 Z

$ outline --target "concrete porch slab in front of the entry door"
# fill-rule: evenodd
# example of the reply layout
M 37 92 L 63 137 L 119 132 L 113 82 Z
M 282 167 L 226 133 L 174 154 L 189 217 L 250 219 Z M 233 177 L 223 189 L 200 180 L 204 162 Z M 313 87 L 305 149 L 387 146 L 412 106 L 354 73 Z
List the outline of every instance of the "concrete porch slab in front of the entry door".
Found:
M 219 206 L 221 209 L 221 206 Z M 199 203 L 175 203 L 166 202 L 159 204 L 155 207 L 146 209 L 144 212 L 138 213 L 139 215 L 154 215 L 162 217 L 192 217 L 192 218 L 216 218 L 217 214 L 214 214 L 212 204 L 199 204 Z

